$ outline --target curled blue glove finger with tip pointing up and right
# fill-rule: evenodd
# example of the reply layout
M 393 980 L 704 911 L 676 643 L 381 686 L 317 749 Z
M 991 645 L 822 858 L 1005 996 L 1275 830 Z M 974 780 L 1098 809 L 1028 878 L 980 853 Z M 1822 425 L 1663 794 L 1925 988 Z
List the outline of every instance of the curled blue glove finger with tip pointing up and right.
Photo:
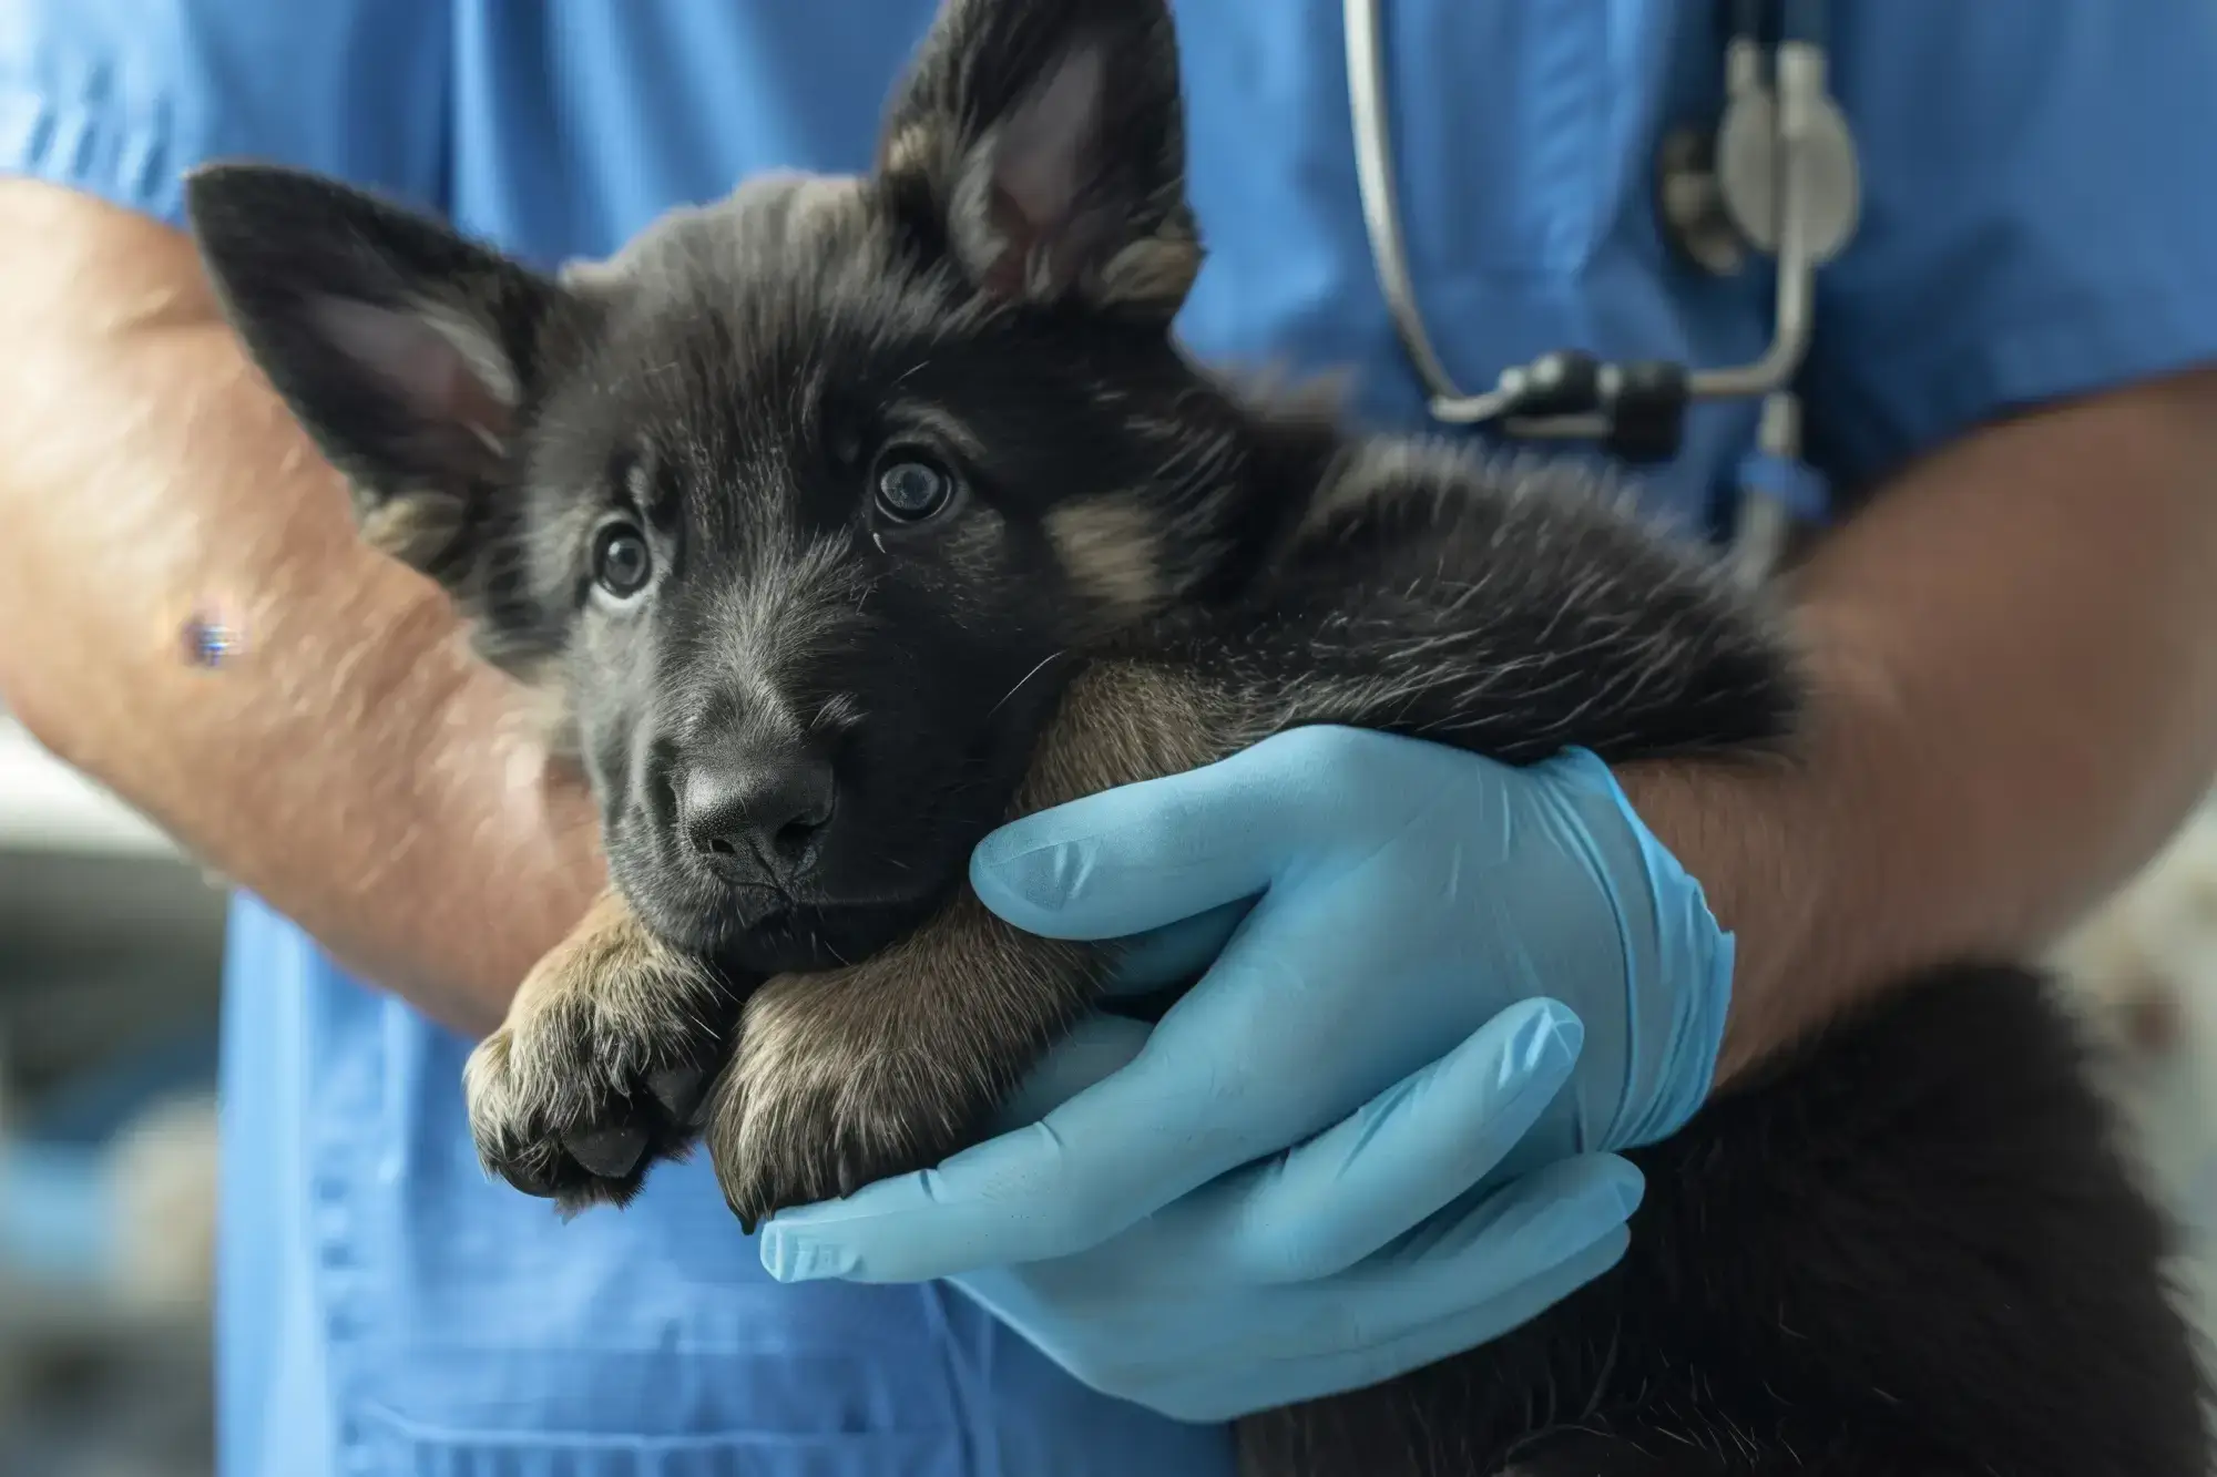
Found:
M 1148 1229 L 1217 1282 L 1315 1282 L 1355 1266 L 1477 1189 L 1570 1080 L 1579 1020 L 1563 1011 L 1528 1042 L 1521 1031 L 1523 1011 L 1494 1016 L 1332 1129 L 1186 1195 Z

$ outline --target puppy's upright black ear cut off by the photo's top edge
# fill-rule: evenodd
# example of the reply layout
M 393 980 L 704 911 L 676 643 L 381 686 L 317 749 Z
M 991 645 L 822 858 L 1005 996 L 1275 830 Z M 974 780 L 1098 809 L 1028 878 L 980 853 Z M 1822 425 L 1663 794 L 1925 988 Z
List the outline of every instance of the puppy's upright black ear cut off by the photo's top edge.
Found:
M 878 177 L 1000 299 L 1168 322 L 1202 266 L 1164 0 L 944 0 Z

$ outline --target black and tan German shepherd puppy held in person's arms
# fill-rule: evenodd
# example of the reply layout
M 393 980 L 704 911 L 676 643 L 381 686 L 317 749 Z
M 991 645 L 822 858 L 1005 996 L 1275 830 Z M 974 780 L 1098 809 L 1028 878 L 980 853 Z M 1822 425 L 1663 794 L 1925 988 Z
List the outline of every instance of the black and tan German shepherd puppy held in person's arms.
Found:
M 867 177 L 543 275 L 335 182 L 188 208 L 366 534 L 559 694 L 614 889 L 468 1069 L 486 1162 L 756 1220 L 938 1162 L 1106 951 L 998 923 L 1011 814 L 1290 727 L 1791 754 L 1771 612 L 1592 479 L 1199 373 L 1162 0 L 951 0 Z M 1485 1348 L 1242 1422 L 1270 1477 L 2199 1477 L 2201 1379 L 2082 1047 L 1909 982 L 1634 1158 L 1632 1251 Z

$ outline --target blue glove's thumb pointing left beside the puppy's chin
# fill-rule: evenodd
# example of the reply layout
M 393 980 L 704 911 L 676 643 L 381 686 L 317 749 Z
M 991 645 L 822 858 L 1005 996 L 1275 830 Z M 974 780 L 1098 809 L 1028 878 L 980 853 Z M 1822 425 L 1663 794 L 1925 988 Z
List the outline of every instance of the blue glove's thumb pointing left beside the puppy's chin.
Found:
M 1013 821 L 971 852 L 971 887 L 1046 938 L 1131 938 L 1253 898 L 1290 858 L 1372 823 L 1332 772 L 1346 745 L 1319 732 Z

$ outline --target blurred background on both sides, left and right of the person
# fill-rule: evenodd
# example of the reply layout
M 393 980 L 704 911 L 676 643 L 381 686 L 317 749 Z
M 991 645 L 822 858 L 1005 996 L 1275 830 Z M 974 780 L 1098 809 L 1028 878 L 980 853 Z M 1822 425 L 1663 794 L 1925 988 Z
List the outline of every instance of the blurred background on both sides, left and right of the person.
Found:
M 0 1477 L 213 1473 L 224 896 L 0 714 Z M 2062 951 L 2217 1331 L 2217 805 Z

